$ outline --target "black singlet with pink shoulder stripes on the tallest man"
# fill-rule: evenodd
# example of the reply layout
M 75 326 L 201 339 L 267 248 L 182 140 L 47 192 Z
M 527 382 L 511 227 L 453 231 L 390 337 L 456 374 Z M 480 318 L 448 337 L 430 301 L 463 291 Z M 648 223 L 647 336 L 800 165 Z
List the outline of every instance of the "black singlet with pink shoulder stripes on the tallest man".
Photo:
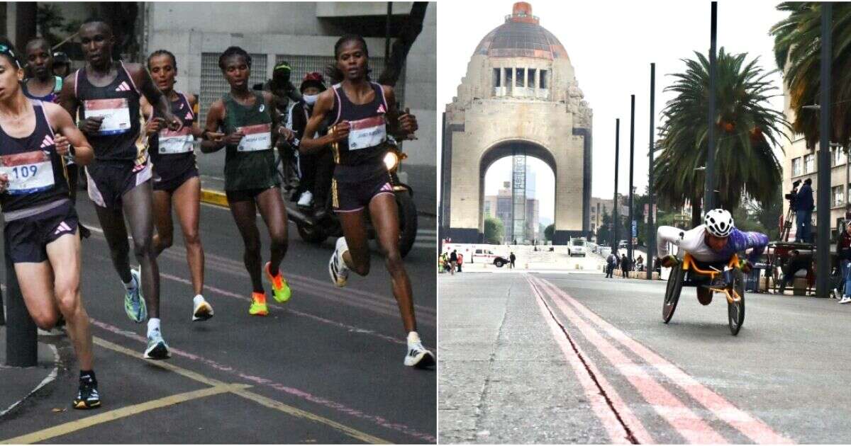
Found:
M 144 157 L 137 145 L 140 134 L 139 99 L 133 79 L 119 62 L 117 76 L 106 87 L 89 82 L 85 68 L 77 70 L 75 94 L 80 102 L 81 119 L 103 116 L 97 133 L 86 134 L 98 161 L 136 161 Z M 141 164 L 141 163 L 139 163 Z

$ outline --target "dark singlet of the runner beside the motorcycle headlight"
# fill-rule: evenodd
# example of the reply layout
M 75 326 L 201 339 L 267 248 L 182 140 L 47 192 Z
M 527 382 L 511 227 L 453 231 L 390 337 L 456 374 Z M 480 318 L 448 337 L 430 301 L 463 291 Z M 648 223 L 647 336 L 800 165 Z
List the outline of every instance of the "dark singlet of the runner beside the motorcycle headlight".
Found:
M 374 91 L 374 99 L 367 104 L 353 104 L 346 96 L 342 84 L 334 85 L 334 107 L 329 116 L 334 119 L 330 126 L 340 121 L 349 121 L 351 130 L 348 138 L 340 141 L 334 150 L 334 178 L 341 181 L 357 181 L 372 176 L 384 166 L 387 153 L 384 143 L 387 140 L 387 100 L 384 88 L 375 82 L 369 82 Z

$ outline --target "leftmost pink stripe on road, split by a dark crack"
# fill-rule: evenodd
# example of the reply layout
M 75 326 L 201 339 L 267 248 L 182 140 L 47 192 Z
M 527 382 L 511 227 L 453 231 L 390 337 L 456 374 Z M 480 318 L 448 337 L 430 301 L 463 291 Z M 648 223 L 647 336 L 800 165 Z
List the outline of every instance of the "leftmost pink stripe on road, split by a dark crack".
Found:
M 597 415 L 597 418 L 603 423 L 603 427 L 605 427 L 606 432 L 608 432 L 608 438 L 615 444 L 631 444 L 632 442 L 629 439 L 629 432 L 626 432 L 624 427 L 625 424 L 626 426 L 629 426 L 632 436 L 636 438 L 638 443 L 653 443 L 653 439 L 650 438 L 650 435 L 644 429 L 641 421 L 638 421 L 635 415 L 632 415 L 631 410 L 620 399 L 620 396 L 614 390 L 614 387 L 611 387 L 603 375 L 597 371 L 597 368 L 593 367 L 591 362 L 588 361 L 588 357 L 581 352 L 579 346 L 568 341 L 568 338 L 562 331 L 562 327 L 553 320 L 550 310 L 546 307 L 544 302 L 544 297 L 540 295 L 540 291 L 534 286 L 534 284 L 532 284 L 531 280 L 528 279 L 528 276 L 526 279 L 528 280 L 529 286 L 532 288 L 535 296 L 537 296 L 535 302 L 538 303 L 541 315 L 544 317 L 547 325 L 550 326 L 550 330 L 552 330 L 553 339 L 558 344 L 558 347 L 561 348 L 564 358 L 568 360 L 568 364 L 570 364 L 573 368 L 576 379 L 580 381 L 582 388 L 585 390 L 585 398 L 588 398 L 588 401 L 591 402 L 591 409 L 594 410 L 594 414 Z M 575 351 L 574 348 L 576 349 Z M 585 358 L 585 363 L 583 363 L 580 357 L 577 356 L 577 353 L 581 357 Z M 588 369 L 585 369 L 586 366 Z M 593 367 L 593 369 L 591 369 L 591 367 Z M 594 379 L 591 378 L 591 375 L 589 375 L 589 370 L 591 370 L 591 373 L 595 375 L 597 383 L 595 383 Z M 597 385 L 599 385 L 599 387 L 597 387 Z M 617 415 L 614 414 L 613 407 L 609 407 L 605 397 L 603 397 L 603 393 L 601 393 L 601 390 L 605 392 L 605 395 L 612 402 L 614 410 L 620 414 L 621 418 L 624 420 L 624 424 L 621 424 Z

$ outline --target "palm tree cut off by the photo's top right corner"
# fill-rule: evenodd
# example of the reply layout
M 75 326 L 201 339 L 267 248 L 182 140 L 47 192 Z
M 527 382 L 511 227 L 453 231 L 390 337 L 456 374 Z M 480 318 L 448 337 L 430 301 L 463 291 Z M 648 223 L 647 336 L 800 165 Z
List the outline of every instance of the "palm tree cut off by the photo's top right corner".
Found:
M 819 141 L 819 114 L 802 110 L 818 102 L 821 71 L 821 7 L 819 2 L 785 2 L 777 9 L 789 13 L 771 27 L 774 56 L 785 73 L 789 104 L 795 112 L 792 129 L 803 133 L 808 147 Z M 831 61 L 831 138 L 851 142 L 851 3 L 833 3 Z

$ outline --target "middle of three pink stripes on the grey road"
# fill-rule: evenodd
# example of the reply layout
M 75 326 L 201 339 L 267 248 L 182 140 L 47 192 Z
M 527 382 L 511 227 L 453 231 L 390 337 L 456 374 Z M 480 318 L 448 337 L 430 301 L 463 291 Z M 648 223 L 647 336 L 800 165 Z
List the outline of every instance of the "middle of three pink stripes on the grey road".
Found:
M 585 320 L 574 313 L 574 310 L 569 308 L 563 300 L 555 298 L 556 296 L 552 292 L 552 288 L 554 287 L 549 282 L 543 282 L 536 278 L 532 280 L 543 286 L 545 290 L 549 289 L 549 296 L 553 302 L 570 319 L 570 322 L 576 329 L 582 333 L 582 336 L 585 336 L 585 339 L 591 342 L 597 348 L 597 351 L 602 353 L 608 359 L 608 362 L 620 371 L 621 375 L 625 376 L 626 380 L 631 383 L 632 387 L 636 388 L 638 393 L 653 407 L 656 413 L 682 435 L 688 443 L 728 443 L 725 438 L 718 434 L 718 432 L 715 432 L 699 415 L 695 414 L 693 410 L 688 409 L 671 392 L 665 390 L 665 387 L 662 387 L 660 382 L 654 380 L 652 376 L 647 373 L 643 375 L 629 373 L 629 370 L 634 371 L 637 368 L 637 364 L 606 341 L 603 336 L 600 336 L 597 330 L 594 330 L 591 325 L 588 325 Z

